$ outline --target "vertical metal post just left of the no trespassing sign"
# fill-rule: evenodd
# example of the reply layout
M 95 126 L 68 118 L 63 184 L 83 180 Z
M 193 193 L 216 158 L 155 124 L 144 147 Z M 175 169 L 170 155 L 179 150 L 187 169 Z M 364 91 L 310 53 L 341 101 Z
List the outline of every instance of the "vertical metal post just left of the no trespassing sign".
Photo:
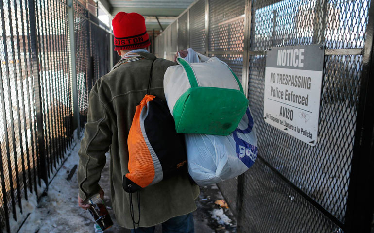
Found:
M 251 13 L 252 13 L 252 0 L 245 1 L 245 18 L 244 18 L 244 51 L 243 51 L 243 71 L 241 83 L 245 96 L 248 98 L 248 79 L 249 79 L 249 41 L 251 36 Z M 244 232 L 242 230 L 242 210 L 244 199 L 244 179 L 245 174 L 238 176 L 237 184 L 237 232 Z

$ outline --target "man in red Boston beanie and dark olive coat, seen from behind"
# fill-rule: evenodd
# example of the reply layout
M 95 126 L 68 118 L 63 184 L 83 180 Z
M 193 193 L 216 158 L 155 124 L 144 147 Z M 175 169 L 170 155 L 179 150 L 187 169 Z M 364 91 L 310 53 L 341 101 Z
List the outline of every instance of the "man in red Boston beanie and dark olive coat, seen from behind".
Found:
M 150 42 L 141 15 L 119 12 L 112 25 L 115 50 L 122 59 L 95 83 L 89 95 L 85 137 L 78 152 L 78 203 L 87 209 L 85 199 L 96 193 L 103 198 L 98 182 L 105 153 L 110 150 L 110 189 L 116 220 L 122 227 L 133 228 L 129 195 L 122 188 L 122 177 L 129 172 L 127 136 L 136 105 L 146 94 L 153 60 L 151 94 L 165 102 L 164 73 L 176 63 L 156 59 L 146 50 Z M 199 187 L 191 184 L 187 172 L 142 189 L 140 211 L 136 195 L 133 196 L 134 220 L 141 213 L 140 228 L 136 232 L 153 232 L 154 225 L 159 223 L 163 223 L 164 232 L 194 232 L 191 212 L 196 209 L 198 195 Z

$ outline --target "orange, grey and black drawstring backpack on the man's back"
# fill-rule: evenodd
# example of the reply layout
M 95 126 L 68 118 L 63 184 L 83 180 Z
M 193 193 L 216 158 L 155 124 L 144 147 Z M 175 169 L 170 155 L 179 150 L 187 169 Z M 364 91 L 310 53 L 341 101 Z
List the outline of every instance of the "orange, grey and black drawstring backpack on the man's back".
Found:
M 136 106 L 133 123 L 127 138 L 129 173 L 123 176 L 123 189 L 129 193 L 130 214 L 135 224 L 140 221 L 140 193 L 142 188 L 159 183 L 176 174 L 187 164 L 183 134 L 175 131 L 174 119 L 167 104 L 150 95 L 152 67 L 147 94 Z M 137 192 L 139 219 L 134 221 L 132 193 Z

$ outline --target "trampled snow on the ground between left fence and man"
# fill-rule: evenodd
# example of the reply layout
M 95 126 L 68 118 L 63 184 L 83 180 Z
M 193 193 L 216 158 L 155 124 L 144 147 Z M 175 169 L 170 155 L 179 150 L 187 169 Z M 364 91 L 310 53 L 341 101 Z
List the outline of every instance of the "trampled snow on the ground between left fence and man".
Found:
M 50 183 L 48 195 L 41 197 L 19 233 L 93 232 L 92 216 L 78 207 L 77 172 L 67 180 L 70 170 L 78 164 L 78 150 L 79 144 Z

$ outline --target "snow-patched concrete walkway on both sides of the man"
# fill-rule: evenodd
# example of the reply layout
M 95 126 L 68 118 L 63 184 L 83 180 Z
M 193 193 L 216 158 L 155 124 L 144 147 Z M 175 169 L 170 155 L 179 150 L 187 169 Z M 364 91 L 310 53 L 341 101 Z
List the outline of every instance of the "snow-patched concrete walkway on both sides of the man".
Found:
M 88 211 L 82 210 L 77 204 L 78 184 L 77 171 L 79 144 L 49 185 L 48 195 L 43 196 L 37 208 L 28 216 L 20 233 L 94 233 L 94 222 Z M 105 233 L 130 233 L 120 227 L 112 209 L 110 200 L 109 156 L 102 171 L 99 182 L 105 192 L 104 202 L 114 222 L 113 227 Z M 214 204 L 215 200 L 223 199 L 216 185 L 201 187 L 196 200 L 198 209 L 194 212 L 195 233 L 231 233 L 236 231 L 236 221 L 230 209 Z M 221 222 L 221 224 L 219 223 Z M 156 233 L 161 233 L 161 226 L 156 226 Z

